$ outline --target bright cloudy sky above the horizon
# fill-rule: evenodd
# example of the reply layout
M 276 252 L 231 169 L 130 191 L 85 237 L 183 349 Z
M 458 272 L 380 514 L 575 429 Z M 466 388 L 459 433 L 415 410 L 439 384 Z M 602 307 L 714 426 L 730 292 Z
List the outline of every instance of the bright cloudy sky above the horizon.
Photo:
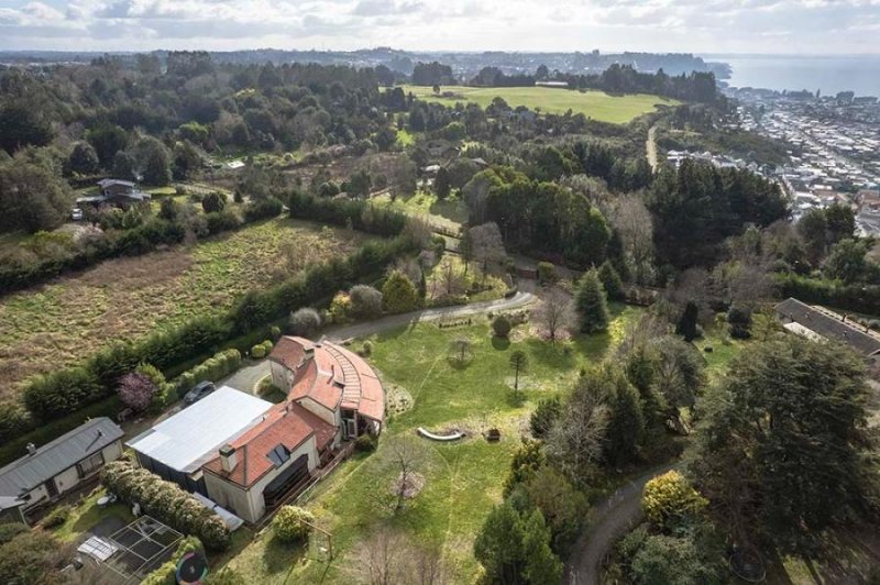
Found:
M 0 0 L 0 48 L 880 54 L 880 0 Z

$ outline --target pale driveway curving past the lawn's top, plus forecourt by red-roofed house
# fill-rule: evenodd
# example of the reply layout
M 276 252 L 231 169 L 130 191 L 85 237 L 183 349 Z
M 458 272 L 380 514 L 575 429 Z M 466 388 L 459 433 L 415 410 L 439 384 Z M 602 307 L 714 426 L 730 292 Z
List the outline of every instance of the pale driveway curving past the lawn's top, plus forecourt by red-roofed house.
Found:
M 458 317 L 470 317 L 483 314 L 490 311 L 505 311 L 521 309 L 535 302 L 535 295 L 531 292 L 517 292 L 509 299 L 490 300 L 485 302 L 474 302 L 471 305 L 460 305 L 455 307 L 441 307 L 438 309 L 425 309 L 403 314 L 392 314 L 353 325 L 334 327 L 324 332 L 330 341 L 345 341 L 350 339 L 365 338 L 375 333 L 387 331 L 397 327 L 416 324 L 425 321 L 437 321 L 439 319 L 454 319 Z M 237 390 L 254 394 L 256 384 L 270 374 L 268 361 L 262 360 L 249 364 L 229 378 L 221 380 L 221 384 L 231 386 Z

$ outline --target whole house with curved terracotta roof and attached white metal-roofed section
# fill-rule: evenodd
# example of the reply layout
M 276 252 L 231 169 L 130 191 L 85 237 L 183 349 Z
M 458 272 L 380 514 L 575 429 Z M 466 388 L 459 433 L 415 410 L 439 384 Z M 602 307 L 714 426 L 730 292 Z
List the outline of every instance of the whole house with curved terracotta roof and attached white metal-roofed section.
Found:
M 382 430 L 385 393 L 356 354 L 285 336 L 268 360 L 283 402 L 222 387 L 127 443 L 139 464 L 256 522 Z

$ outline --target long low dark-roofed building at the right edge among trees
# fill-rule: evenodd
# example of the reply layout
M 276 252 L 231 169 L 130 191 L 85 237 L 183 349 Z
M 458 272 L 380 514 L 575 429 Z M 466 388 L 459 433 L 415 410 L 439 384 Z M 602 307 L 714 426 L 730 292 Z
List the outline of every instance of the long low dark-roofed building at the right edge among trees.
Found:
M 777 314 L 788 331 L 814 341 L 845 343 L 868 362 L 880 364 L 880 335 L 869 328 L 822 307 L 789 298 L 777 305 Z

